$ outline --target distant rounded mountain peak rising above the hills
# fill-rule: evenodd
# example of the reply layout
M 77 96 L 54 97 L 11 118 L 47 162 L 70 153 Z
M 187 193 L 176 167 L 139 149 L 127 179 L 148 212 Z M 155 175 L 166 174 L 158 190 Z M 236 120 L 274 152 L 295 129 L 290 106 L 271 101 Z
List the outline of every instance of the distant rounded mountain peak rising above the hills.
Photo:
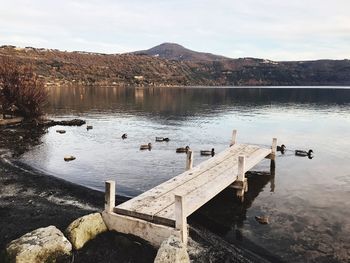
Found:
M 193 51 L 176 43 L 163 43 L 147 50 L 135 51 L 132 53 L 136 55 L 160 57 L 168 60 L 193 62 L 220 61 L 227 59 L 226 57 L 213 55 L 211 53 Z

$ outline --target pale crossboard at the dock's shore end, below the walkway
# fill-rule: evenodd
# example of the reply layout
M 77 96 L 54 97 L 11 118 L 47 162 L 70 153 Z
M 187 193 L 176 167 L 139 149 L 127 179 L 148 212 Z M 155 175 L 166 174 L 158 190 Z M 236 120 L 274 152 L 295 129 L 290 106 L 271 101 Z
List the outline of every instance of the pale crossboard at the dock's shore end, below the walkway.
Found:
M 138 218 L 119 215 L 113 212 L 102 212 L 102 218 L 108 230 L 130 234 L 148 241 L 154 247 L 160 247 L 169 236 L 181 238 L 180 231 L 172 227 L 153 224 Z

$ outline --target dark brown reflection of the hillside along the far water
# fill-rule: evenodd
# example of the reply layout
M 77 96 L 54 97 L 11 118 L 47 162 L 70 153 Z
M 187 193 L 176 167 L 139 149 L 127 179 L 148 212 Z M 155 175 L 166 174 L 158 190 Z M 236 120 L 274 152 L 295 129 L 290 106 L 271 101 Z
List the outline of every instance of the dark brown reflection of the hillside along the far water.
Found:
M 60 87 L 50 90 L 51 108 L 83 113 L 116 110 L 142 111 L 161 116 L 217 113 L 236 107 L 279 104 L 342 104 L 350 102 L 346 89 L 262 89 L 262 88 L 127 88 Z M 218 108 L 220 107 L 220 108 Z

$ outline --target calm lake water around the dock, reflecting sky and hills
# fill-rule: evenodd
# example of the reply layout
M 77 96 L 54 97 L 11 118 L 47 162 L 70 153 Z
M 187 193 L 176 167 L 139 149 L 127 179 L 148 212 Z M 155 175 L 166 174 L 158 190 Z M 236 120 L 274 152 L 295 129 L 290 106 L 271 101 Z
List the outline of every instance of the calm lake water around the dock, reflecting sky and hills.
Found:
M 277 137 L 288 151 L 278 156 L 275 176 L 250 178 L 242 204 L 222 193 L 202 212 L 207 227 L 276 260 L 349 262 L 350 89 L 52 88 L 48 111 L 56 119 L 83 118 L 93 129 L 52 127 L 21 160 L 101 191 L 105 180 L 116 180 L 117 194 L 130 197 L 184 171 L 177 147 L 189 145 L 196 165 L 208 158 L 200 150 L 225 149 L 232 129 L 242 143 L 268 147 Z M 140 151 L 148 142 L 152 150 Z M 313 149 L 315 157 L 296 157 L 295 149 Z M 67 163 L 64 155 L 77 159 Z M 253 170 L 269 171 L 269 161 Z M 262 214 L 269 225 L 255 221 Z

